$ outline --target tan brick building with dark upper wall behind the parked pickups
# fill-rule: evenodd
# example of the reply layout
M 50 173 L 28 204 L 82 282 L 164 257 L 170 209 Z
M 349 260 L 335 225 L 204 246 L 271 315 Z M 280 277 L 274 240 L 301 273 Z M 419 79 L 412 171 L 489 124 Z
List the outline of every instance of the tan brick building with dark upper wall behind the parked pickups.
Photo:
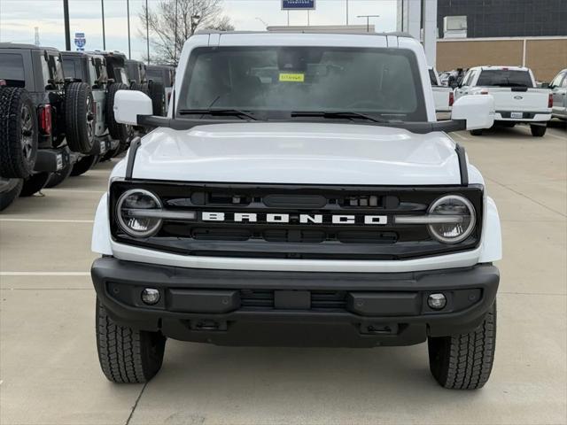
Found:
M 528 66 L 550 81 L 567 68 L 566 0 L 438 0 L 437 27 L 439 71 Z

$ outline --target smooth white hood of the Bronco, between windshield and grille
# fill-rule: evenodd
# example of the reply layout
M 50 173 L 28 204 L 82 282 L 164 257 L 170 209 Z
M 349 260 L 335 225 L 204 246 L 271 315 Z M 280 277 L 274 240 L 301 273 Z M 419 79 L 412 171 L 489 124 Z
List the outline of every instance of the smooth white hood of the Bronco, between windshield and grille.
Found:
M 459 184 L 454 142 L 356 124 L 234 123 L 144 136 L 132 176 L 183 182 Z

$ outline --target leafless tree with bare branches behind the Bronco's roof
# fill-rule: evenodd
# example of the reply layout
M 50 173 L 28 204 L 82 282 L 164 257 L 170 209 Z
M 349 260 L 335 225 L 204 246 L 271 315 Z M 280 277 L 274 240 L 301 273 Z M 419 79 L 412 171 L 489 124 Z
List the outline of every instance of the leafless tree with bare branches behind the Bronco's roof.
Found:
M 234 29 L 229 17 L 222 16 L 221 4 L 222 0 L 159 0 L 147 11 L 143 6 L 138 33 L 147 41 L 149 32 L 151 45 L 150 58 L 144 60 L 177 66 L 183 43 L 198 29 Z

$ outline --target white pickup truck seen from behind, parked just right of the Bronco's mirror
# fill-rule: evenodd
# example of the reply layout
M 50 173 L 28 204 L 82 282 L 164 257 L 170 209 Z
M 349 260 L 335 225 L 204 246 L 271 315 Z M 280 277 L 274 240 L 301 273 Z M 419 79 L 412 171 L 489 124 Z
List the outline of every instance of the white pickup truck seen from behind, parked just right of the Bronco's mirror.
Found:
M 553 97 L 548 89 L 536 89 L 532 70 L 524 66 L 476 66 L 470 68 L 455 90 L 455 98 L 469 95 L 492 95 L 495 121 L 509 127 L 530 124 L 532 135 L 546 134 L 551 120 Z M 481 135 L 482 129 L 472 130 Z

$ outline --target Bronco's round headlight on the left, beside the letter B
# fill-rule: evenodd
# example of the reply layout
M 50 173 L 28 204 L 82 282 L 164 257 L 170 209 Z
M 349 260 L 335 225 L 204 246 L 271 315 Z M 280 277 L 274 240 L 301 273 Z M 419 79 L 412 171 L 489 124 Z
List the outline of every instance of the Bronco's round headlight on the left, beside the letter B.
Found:
M 129 236 L 148 237 L 155 235 L 162 220 L 151 217 L 151 210 L 161 209 L 159 197 L 144 189 L 131 189 L 122 194 L 116 205 L 116 216 L 120 228 Z

